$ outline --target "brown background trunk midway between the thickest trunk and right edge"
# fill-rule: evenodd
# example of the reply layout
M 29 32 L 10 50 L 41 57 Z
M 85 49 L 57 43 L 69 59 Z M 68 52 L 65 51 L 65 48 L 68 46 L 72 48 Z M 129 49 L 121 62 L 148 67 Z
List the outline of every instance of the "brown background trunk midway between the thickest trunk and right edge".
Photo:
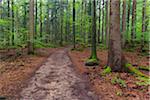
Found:
M 133 6 L 132 6 L 132 29 L 131 29 L 131 42 L 133 42 L 136 39 L 136 0 L 133 0 Z

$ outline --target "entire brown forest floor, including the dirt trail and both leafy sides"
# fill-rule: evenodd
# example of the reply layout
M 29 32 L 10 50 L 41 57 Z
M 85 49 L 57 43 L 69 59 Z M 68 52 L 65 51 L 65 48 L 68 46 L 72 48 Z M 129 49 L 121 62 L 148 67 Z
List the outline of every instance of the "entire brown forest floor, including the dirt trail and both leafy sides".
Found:
M 36 55 L 0 51 L 0 96 L 10 100 L 149 100 L 150 86 L 137 85 L 129 73 L 101 76 L 107 63 L 107 50 L 98 50 L 100 65 L 87 67 L 90 50 L 69 51 L 64 48 L 37 49 Z M 14 55 L 15 54 L 15 55 Z M 147 56 L 125 52 L 135 66 L 148 66 Z M 148 72 L 143 71 L 145 74 Z M 112 84 L 119 77 L 123 82 Z M 125 86 L 125 87 L 124 87 Z M 96 94 L 96 95 L 95 95 Z M 16 99 L 20 98 L 20 99 Z M 99 99 L 98 99 L 99 98 Z

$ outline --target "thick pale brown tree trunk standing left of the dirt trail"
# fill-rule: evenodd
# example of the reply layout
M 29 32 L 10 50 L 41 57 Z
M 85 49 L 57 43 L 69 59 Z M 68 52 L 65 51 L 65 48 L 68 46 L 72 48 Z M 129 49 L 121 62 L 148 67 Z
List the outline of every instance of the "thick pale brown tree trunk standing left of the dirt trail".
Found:
M 30 0 L 28 54 L 32 54 L 34 52 L 33 41 L 34 41 L 34 0 Z

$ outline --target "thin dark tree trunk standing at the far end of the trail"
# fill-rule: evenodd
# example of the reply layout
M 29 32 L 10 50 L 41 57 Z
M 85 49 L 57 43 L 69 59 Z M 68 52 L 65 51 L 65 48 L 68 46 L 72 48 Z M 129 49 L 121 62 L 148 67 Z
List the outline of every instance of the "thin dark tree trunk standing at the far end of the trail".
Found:
M 76 38 L 75 38 L 75 0 L 73 0 L 73 48 L 76 48 Z

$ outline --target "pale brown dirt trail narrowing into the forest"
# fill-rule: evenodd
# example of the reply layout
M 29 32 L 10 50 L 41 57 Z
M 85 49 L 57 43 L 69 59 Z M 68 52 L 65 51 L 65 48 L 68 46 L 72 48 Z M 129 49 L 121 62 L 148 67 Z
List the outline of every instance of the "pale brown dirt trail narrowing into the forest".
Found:
M 20 95 L 19 100 L 99 100 L 74 71 L 67 49 L 53 53 Z

